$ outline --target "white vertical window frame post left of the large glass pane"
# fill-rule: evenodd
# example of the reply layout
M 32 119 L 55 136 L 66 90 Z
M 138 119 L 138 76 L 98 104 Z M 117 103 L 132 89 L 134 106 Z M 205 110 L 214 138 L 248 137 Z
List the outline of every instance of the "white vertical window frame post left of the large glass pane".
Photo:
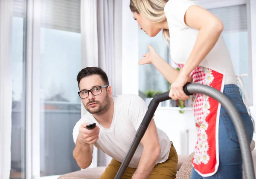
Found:
M 26 173 L 25 179 L 55 179 L 60 175 L 41 176 L 40 170 L 40 59 L 41 0 L 27 0 L 26 20 Z M 82 104 L 81 104 L 82 105 Z M 81 111 L 82 115 L 82 111 Z M 72 135 L 72 134 L 71 134 Z M 96 161 L 97 162 L 97 161 Z M 64 174 L 64 173 L 63 173 Z

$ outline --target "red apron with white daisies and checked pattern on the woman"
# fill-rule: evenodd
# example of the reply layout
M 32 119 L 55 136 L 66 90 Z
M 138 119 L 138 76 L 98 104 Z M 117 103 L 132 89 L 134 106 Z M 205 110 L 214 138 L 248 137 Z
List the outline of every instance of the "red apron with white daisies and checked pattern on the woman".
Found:
M 180 69 L 183 65 L 177 64 Z M 190 74 L 193 83 L 208 85 L 223 92 L 224 74 L 198 66 Z M 203 177 L 212 176 L 218 170 L 218 126 L 221 105 L 204 94 L 191 96 L 197 127 L 197 142 L 192 165 Z

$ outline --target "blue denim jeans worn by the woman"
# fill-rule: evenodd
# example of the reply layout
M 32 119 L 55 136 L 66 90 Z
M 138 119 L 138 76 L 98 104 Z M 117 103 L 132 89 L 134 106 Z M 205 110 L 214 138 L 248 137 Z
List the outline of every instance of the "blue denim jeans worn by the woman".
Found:
M 237 85 L 225 85 L 223 93 L 234 103 L 238 109 L 246 128 L 249 142 L 253 138 L 253 122 L 247 113 Z M 242 156 L 239 141 L 233 122 L 227 111 L 221 106 L 219 121 L 219 167 L 218 171 L 209 177 L 200 176 L 194 168 L 190 179 L 242 179 Z

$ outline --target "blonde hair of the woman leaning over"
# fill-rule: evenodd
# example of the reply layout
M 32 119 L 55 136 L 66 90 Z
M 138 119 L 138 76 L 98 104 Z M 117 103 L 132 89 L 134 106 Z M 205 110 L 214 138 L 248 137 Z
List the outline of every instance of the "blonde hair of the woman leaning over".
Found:
M 166 20 L 164 7 L 168 0 L 131 0 L 130 9 L 132 12 L 142 14 L 153 23 L 159 23 Z M 168 29 L 163 29 L 163 37 L 166 43 L 170 39 Z

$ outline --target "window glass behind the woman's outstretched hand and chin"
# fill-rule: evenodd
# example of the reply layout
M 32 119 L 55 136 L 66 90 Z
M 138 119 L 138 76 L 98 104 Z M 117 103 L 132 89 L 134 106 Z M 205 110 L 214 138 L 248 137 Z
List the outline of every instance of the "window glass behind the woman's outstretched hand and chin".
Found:
M 144 31 L 139 28 L 139 57 L 143 58 L 142 55 L 148 52 L 147 45 L 151 45 L 157 54 L 159 54 L 164 60 L 169 63 L 169 47 L 163 40 L 162 31 L 157 36 L 149 37 Z M 155 92 L 166 92 L 168 91 L 167 80 L 163 75 L 154 67 L 153 64 L 139 65 L 139 96 L 144 100 L 148 96 L 147 91 L 153 90 Z

